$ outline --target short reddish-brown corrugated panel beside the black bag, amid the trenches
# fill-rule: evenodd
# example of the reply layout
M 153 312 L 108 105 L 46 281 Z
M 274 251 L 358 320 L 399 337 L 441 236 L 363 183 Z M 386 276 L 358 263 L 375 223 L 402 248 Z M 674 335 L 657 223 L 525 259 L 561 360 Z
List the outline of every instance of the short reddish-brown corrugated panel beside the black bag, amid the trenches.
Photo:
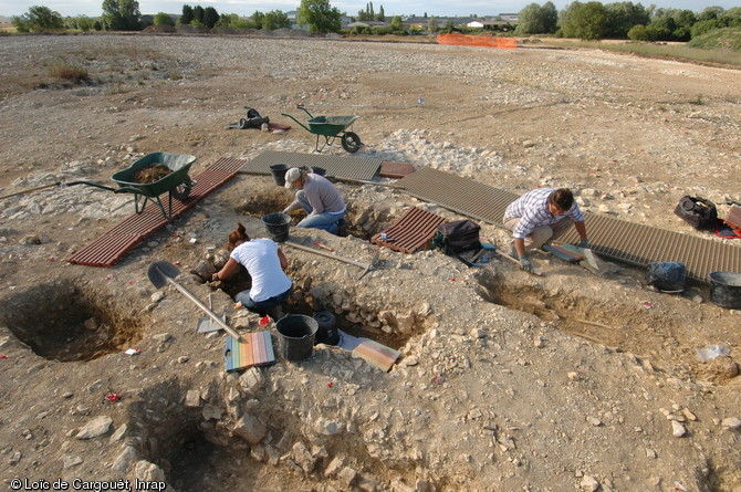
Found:
M 398 222 L 370 238 L 370 242 L 410 254 L 425 247 L 435 235 L 437 227 L 442 222 L 445 222 L 445 218 L 411 207 L 404 212 Z M 385 233 L 388 239 L 382 239 L 382 233 Z

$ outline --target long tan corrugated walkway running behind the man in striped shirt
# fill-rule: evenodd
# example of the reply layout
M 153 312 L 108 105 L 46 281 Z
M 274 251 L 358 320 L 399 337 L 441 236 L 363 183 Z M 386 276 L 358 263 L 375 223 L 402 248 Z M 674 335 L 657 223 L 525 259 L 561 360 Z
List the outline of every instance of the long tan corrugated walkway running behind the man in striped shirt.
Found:
M 498 226 L 501 226 L 507 206 L 519 197 L 470 178 L 429 168 L 399 179 L 397 185 L 422 200 Z M 710 272 L 741 273 L 741 248 L 738 245 L 603 214 L 586 212 L 584 221 L 592 250 L 610 260 L 637 266 L 648 266 L 655 261 L 681 261 L 689 279 L 706 283 Z M 578 234 L 572 229 L 561 239 L 575 243 Z

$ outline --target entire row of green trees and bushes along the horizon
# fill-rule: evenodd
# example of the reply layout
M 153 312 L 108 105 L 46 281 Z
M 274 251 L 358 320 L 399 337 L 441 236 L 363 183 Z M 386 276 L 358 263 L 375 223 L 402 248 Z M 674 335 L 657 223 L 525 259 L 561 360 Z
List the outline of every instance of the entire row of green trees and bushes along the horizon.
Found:
M 28 13 L 13 17 L 11 23 L 19 32 L 50 32 L 64 29 L 138 31 L 148 24 L 142 22 L 137 0 L 103 0 L 103 14 L 97 19 L 87 17 L 63 19 L 48 7 L 31 7 Z M 343 13 L 333 8 L 330 0 L 301 0 L 296 11 L 296 23 L 305 25 L 310 32 L 341 32 Z M 385 21 L 384 8 L 376 13 L 373 2 L 355 18 L 359 21 Z M 175 20 L 159 12 L 149 23 L 174 25 Z M 267 13 L 255 11 L 248 18 L 236 13 L 219 14 L 213 7 L 182 6 L 178 24 L 212 29 L 216 27 L 233 29 L 275 30 L 291 28 L 288 15 L 280 10 Z M 508 24 L 508 31 L 511 27 Z M 629 1 L 603 4 L 598 1 L 570 3 L 559 12 L 553 2 L 531 3 L 519 12 L 514 28 L 515 35 L 554 34 L 562 38 L 582 40 L 630 39 L 634 41 L 690 41 L 709 31 L 723 28 L 741 28 L 741 8 L 724 10 L 721 7 L 708 7 L 700 13 L 682 9 L 665 9 Z M 421 30 L 421 29 L 418 29 Z M 430 18 L 428 32 L 449 32 L 459 30 L 448 22 L 440 29 L 435 18 Z M 460 28 L 465 30 L 465 28 Z M 389 25 L 367 28 L 357 27 L 354 34 L 408 34 L 400 17 L 395 17 Z

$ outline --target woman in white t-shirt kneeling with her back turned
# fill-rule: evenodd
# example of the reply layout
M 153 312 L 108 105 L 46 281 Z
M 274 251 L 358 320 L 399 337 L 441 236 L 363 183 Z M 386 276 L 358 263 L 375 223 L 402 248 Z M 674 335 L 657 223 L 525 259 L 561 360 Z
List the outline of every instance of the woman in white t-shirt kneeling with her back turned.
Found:
M 288 259 L 283 251 L 271 239 L 252 239 L 247 234 L 244 226 L 237 224 L 237 230 L 229 234 L 227 244 L 229 260 L 223 268 L 212 275 L 212 280 L 223 280 L 242 265 L 252 278 L 252 286 L 234 296 L 243 307 L 265 314 L 275 314 L 279 307 L 291 295 L 293 283 L 285 274 Z M 278 312 L 281 312 L 279 310 Z M 280 317 L 273 315 L 274 318 Z

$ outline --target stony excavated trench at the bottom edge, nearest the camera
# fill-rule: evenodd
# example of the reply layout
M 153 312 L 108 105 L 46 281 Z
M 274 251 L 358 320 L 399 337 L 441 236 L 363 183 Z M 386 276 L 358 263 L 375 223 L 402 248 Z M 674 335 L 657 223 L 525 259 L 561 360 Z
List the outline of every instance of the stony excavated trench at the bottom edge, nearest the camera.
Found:
M 356 469 L 375 477 L 405 477 L 408 483 L 414 483 L 414 463 L 382 462 L 369 457 L 357 435 L 325 436 L 321 442 L 302 436 L 305 423 L 288 411 L 284 402 L 276 402 L 263 392 L 254 396 L 252 401 L 257 405 L 250 411 L 265 425 L 274 448 L 272 456 L 261 443 L 230 437 L 216 420 L 207 420 L 201 408 L 186 408 L 181 402 L 186 391 L 177 380 L 161 381 L 142 391 L 138 401 L 129 407 L 132 433 L 142 437 L 137 440 L 140 458 L 158 465 L 167 482 L 178 491 L 315 490 L 312 482 L 331 482 L 324 470 L 335 456 L 347 457 Z M 227 406 L 223 401 L 213 404 L 221 410 Z M 327 457 L 317 457 L 309 472 L 290 468 L 281 457 L 290 456 L 293 443 L 299 441 L 307 449 L 321 443 Z

